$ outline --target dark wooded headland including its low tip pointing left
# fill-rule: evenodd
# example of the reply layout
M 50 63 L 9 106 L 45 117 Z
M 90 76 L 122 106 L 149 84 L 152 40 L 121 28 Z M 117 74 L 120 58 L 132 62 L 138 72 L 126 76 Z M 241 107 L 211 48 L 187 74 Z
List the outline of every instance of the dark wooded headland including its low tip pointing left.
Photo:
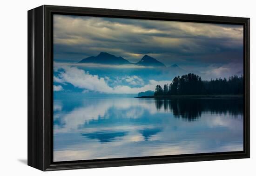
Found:
M 168 85 L 155 86 L 154 91 L 140 92 L 137 98 L 239 98 L 243 97 L 243 75 L 229 79 L 202 80 L 189 73 L 176 76 Z

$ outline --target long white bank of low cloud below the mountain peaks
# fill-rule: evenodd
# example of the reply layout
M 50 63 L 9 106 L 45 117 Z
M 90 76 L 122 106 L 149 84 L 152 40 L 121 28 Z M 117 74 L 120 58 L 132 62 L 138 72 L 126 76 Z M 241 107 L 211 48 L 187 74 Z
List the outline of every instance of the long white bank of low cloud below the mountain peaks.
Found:
M 126 85 L 110 87 L 107 83 L 109 80 L 106 80 L 103 77 L 99 77 L 98 75 L 91 75 L 88 71 L 85 72 L 84 70 L 78 69 L 77 67 L 64 66 L 61 68 L 65 70 L 59 75 L 63 82 L 68 82 L 74 85 L 74 87 L 83 88 L 86 91 L 90 90 L 107 94 L 138 94 L 139 92 L 144 92 L 147 90 L 155 90 L 155 86 L 157 84 L 164 85 L 165 83 L 171 83 L 171 80 L 160 82 L 149 80 L 149 83 L 147 85 L 143 85 L 142 87 L 132 88 Z M 138 85 L 140 81 L 143 82 L 141 78 L 135 75 L 128 76 L 126 81 L 131 85 Z

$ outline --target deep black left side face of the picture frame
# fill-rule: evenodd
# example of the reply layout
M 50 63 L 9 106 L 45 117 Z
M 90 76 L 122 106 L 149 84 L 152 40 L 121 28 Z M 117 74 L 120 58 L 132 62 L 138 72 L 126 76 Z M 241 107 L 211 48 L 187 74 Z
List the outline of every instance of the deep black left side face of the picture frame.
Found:
M 44 169 L 43 142 L 43 6 L 27 12 L 28 17 L 28 116 L 27 165 Z

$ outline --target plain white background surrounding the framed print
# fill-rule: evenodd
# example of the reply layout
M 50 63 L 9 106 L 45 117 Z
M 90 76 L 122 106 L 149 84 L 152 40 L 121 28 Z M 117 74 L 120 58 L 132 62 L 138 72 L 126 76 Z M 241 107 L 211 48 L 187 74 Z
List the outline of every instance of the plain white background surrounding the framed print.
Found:
M 47 5 L 251 18 L 251 158 L 42 172 L 27 163 L 27 10 Z M 253 0 L 5 0 L 0 9 L 0 175 L 242 176 L 255 175 L 256 5 Z

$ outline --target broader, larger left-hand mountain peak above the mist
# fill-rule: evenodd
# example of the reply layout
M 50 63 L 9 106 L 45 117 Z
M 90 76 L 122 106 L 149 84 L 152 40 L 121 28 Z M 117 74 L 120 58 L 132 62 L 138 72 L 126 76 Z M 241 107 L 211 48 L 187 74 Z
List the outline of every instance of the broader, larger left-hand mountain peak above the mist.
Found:
M 116 57 L 115 55 L 108 54 L 107 52 L 101 52 L 98 56 L 87 57 L 81 60 L 79 63 L 101 63 L 101 64 L 114 64 L 114 65 L 122 65 L 122 64 L 132 64 L 128 60 L 122 57 Z

